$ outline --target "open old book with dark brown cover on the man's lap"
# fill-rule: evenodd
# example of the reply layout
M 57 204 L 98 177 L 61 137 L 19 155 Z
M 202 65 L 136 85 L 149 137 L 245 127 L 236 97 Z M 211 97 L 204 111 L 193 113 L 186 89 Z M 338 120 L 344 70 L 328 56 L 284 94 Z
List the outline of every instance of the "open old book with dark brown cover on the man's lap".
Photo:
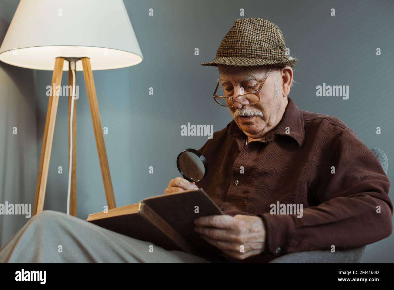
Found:
M 194 220 L 206 215 L 223 215 L 223 212 L 200 188 L 152 196 L 108 213 L 92 213 L 86 221 L 166 250 L 216 256 L 221 253 L 219 249 L 194 231 Z

